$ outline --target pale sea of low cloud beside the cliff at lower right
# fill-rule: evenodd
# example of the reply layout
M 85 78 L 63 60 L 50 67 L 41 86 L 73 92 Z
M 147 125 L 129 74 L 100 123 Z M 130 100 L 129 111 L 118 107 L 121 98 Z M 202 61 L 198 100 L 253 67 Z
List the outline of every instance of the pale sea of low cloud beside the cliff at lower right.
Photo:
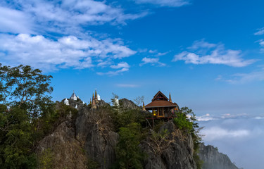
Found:
M 199 125 L 204 127 L 201 130 L 203 142 L 217 146 L 220 152 L 227 154 L 239 167 L 262 168 L 264 162 L 259 159 L 264 156 L 259 150 L 263 149 L 263 115 L 224 114 L 201 117 L 213 118 L 199 121 Z

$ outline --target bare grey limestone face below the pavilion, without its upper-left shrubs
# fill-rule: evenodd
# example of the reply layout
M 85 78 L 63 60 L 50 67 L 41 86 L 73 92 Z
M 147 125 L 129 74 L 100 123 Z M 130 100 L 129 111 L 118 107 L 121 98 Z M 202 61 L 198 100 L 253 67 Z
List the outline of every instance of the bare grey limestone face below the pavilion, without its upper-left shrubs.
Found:
M 196 163 L 193 158 L 193 142 L 191 136 L 188 135 L 185 141 L 182 141 L 180 137 L 172 134 L 176 130 L 176 126 L 172 121 L 165 123 L 159 132 L 167 130 L 169 133 L 169 139 L 173 140 L 165 147 L 160 154 L 157 154 L 151 149 L 148 144 L 142 144 L 142 149 L 148 155 L 145 161 L 146 169 L 158 169 L 158 168 L 179 168 L 179 169 L 196 169 Z M 146 140 L 149 142 L 149 140 Z M 166 144 L 166 143 L 164 143 Z

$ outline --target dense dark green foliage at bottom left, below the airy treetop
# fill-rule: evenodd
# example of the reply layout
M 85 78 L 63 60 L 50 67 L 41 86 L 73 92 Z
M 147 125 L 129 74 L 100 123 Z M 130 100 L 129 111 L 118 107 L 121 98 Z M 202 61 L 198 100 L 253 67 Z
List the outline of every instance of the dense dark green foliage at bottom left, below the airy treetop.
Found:
M 19 107 L 7 109 L 1 105 L 0 122 L 1 168 L 35 168 L 34 131 L 27 112 Z

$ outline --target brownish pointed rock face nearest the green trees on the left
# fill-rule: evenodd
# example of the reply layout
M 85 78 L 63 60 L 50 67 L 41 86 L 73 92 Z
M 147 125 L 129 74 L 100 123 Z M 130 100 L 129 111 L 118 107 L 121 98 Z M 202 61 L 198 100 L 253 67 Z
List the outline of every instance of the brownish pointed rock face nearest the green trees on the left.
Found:
M 65 120 L 39 142 L 37 155 L 42 168 L 86 168 L 87 158 L 75 139 L 74 125 L 71 119 Z

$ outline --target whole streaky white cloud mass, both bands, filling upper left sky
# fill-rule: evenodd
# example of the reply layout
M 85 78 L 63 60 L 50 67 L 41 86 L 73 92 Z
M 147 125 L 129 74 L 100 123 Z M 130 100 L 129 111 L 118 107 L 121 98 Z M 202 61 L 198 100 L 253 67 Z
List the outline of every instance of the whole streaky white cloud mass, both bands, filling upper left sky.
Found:
M 89 32 L 87 26 L 126 25 L 127 20 L 146 14 L 125 13 L 120 6 L 106 1 L 1 1 L 1 62 L 27 64 L 46 71 L 112 68 L 113 71 L 98 74 L 117 75 L 128 71 L 129 65 L 115 65 L 115 59 L 132 56 L 136 51 L 122 39 Z

